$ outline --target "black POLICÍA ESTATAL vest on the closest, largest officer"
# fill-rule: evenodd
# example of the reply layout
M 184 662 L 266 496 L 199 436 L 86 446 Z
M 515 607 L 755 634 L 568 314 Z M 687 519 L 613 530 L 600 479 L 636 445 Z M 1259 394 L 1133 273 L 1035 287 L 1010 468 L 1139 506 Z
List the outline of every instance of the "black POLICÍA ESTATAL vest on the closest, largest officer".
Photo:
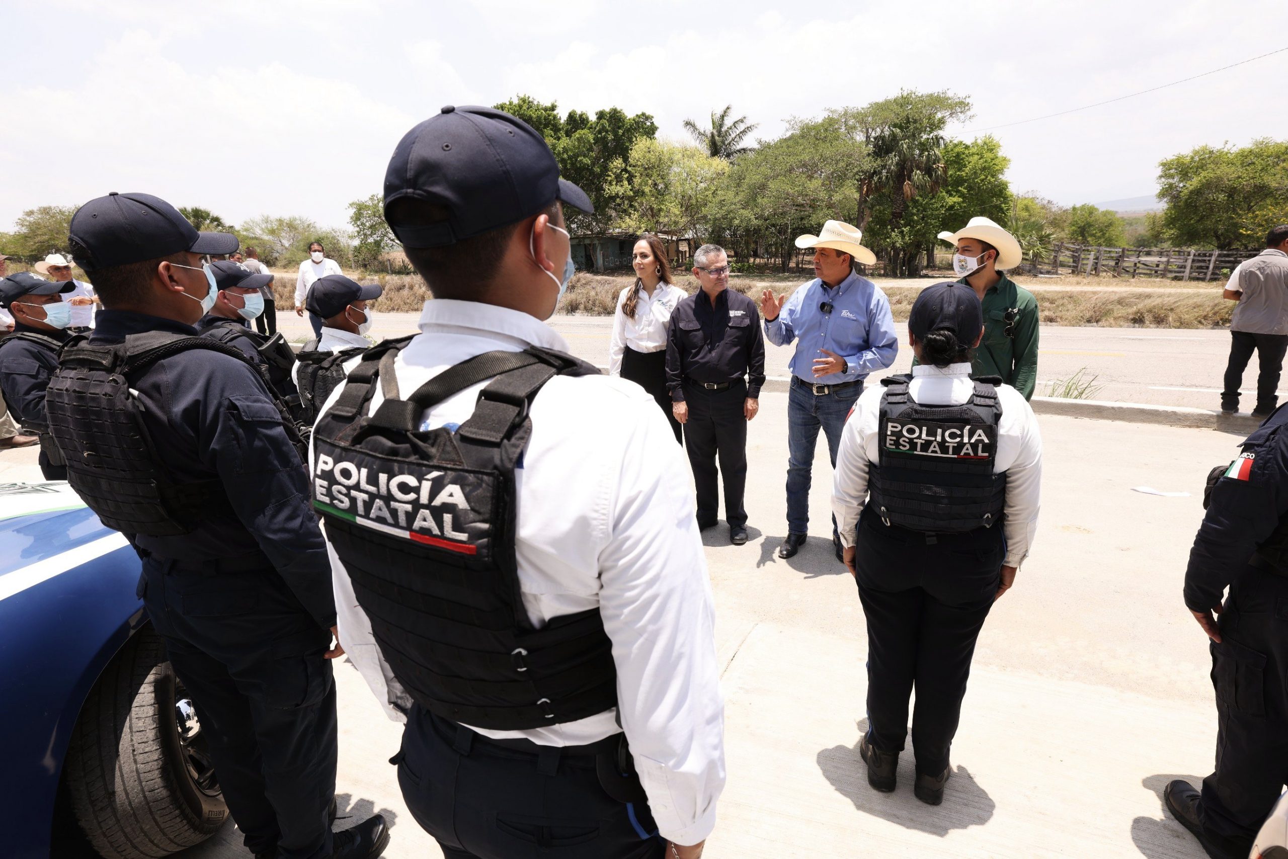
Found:
M 515 559 L 515 464 L 532 399 L 556 375 L 598 371 L 545 349 L 489 352 L 401 399 L 403 345 L 368 349 L 349 373 L 314 428 L 312 474 L 313 505 L 394 676 L 420 706 L 475 728 L 542 728 L 614 707 L 599 609 L 535 628 Z M 469 420 L 421 429 L 426 408 L 488 379 Z M 368 416 L 376 385 L 385 399 Z

